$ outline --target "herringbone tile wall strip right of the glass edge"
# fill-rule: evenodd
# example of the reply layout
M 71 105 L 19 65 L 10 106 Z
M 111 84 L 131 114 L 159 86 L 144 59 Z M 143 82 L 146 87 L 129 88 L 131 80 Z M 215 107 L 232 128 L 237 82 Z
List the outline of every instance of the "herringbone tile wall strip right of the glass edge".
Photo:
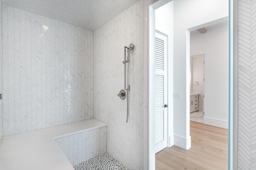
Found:
M 238 0 L 238 169 L 256 169 L 256 1 Z

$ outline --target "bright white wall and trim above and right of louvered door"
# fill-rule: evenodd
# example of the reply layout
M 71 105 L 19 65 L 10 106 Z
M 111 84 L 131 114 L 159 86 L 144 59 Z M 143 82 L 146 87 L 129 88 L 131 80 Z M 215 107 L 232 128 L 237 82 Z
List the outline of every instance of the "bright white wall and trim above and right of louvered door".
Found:
M 173 145 L 173 1 L 155 10 L 155 28 L 168 36 L 168 138 Z

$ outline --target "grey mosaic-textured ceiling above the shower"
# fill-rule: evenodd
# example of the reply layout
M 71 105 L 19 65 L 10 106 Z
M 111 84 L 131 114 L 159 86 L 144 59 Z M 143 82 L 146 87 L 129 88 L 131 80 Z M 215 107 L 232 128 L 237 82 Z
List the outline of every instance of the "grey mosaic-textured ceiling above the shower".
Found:
M 2 0 L 2 4 L 91 31 L 138 0 Z

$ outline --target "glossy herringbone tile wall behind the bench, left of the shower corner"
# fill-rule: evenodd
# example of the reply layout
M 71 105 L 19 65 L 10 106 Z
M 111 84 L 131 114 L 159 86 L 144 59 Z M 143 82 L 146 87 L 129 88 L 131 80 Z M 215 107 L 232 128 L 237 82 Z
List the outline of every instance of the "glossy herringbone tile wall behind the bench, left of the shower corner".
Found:
M 4 135 L 93 118 L 92 31 L 2 6 Z

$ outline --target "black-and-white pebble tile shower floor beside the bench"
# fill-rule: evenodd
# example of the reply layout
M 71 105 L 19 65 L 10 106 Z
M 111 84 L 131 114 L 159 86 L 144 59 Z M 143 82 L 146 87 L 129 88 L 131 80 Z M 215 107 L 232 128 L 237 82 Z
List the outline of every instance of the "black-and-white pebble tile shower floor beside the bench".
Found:
M 76 166 L 75 170 L 128 170 L 110 154 L 104 153 Z

